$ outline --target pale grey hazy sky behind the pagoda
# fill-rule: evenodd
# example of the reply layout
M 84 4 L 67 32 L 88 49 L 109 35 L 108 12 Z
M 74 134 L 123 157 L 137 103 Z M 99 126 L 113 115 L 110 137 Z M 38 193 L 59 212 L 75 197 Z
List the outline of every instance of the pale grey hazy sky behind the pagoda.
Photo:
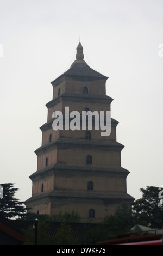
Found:
M 127 192 L 138 199 L 140 188 L 163 185 L 162 11 L 162 0 L 0 0 L 0 184 L 31 196 L 51 82 L 70 68 L 80 36 L 87 64 L 109 77 Z

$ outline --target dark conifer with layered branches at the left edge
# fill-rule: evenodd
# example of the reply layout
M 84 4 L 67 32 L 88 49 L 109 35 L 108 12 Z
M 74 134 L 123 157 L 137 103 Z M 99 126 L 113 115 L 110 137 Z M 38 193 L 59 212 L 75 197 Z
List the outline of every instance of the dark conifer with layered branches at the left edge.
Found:
M 26 215 L 26 207 L 15 198 L 15 192 L 18 188 L 14 188 L 13 183 L 1 184 L 3 187 L 3 198 L 0 199 L 0 216 L 4 218 L 13 218 L 16 216 Z

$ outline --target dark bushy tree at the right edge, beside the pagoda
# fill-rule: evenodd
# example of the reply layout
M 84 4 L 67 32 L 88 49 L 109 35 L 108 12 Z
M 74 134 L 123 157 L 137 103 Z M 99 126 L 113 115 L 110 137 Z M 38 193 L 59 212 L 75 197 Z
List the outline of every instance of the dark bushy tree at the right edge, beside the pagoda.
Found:
M 137 199 L 133 205 L 133 216 L 137 223 L 146 223 L 150 228 L 163 226 L 163 202 L 159 197 L 159 187 L 147 186 L 141 188 L 142 198 Z

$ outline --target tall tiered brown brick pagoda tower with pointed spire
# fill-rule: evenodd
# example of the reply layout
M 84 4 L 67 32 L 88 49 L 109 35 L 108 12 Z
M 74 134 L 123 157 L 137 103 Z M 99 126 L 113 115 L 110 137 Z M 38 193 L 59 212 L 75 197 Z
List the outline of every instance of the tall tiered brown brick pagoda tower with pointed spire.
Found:
M 32 197 L 26 206 L 32 212 L 57 215 L 77 211 L 82 221 L 100 222 L 114 214 L 118 205 L 131 204 L 127 194 L 128 170 L 121 167 L 123 145 L 116 141 L 118 122 L 111 118 L 110 136 L 100 130 L 53 130 L 54 111 L 110 111 L 106 96 L 108 77 L 91 69 L 84 61 L 79 42 L 71 68 L 55 79 L 53 99 L 46 104 L 47 123 L 40 127 L 42 145 L 37 155 L 37 170 L 30 176 Z

